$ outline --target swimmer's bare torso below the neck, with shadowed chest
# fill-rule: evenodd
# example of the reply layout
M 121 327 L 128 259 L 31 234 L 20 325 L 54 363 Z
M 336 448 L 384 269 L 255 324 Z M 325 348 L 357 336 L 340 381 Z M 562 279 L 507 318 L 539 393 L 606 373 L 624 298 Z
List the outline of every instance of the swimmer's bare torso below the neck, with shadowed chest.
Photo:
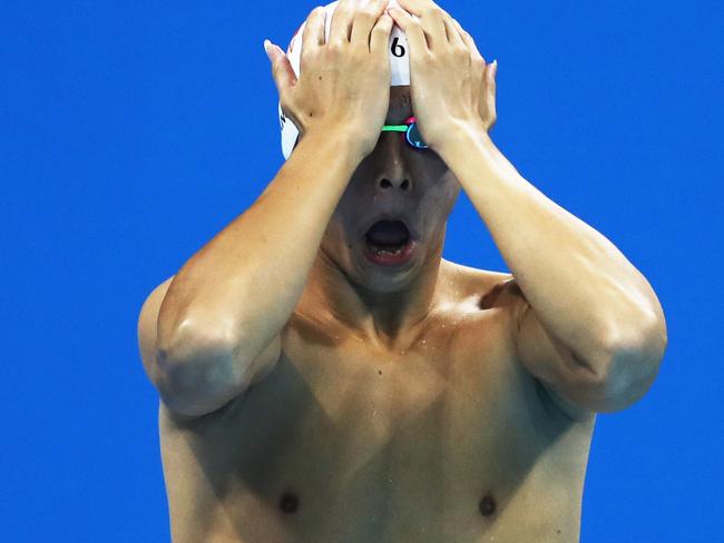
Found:
M 595 415 L 516 359 L 511 276 L 443 263 L 409 348 L 295 312 L 243 396 L 192 422 L 162 405 L 175 543 L 578 541 Z

